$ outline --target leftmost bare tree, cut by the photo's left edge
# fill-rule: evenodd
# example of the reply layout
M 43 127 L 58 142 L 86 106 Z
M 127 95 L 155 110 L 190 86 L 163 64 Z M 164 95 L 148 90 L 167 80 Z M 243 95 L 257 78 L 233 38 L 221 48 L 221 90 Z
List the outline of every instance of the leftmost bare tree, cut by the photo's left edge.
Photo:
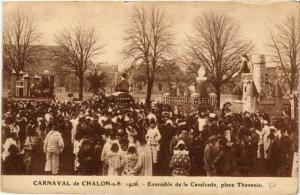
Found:
M 20 71 L 37 60 L 38 41 L 33 17 L 21 14 L 19 11 L 7 19 L 3 32 L 3 64 L 6 70 Z

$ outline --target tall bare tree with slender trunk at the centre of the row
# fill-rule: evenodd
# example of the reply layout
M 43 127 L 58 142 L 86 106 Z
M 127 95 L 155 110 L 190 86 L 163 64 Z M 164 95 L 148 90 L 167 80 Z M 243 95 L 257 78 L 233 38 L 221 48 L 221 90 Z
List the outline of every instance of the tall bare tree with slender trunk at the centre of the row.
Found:
M 146 106 L 151 105 L 151 93 L 157 70 L 170 61 L 172 35 L 164 12 L 152 8 L 135 8 L 125 35 L 123 54 L 131 66 L 142 66 L 146 73 Z

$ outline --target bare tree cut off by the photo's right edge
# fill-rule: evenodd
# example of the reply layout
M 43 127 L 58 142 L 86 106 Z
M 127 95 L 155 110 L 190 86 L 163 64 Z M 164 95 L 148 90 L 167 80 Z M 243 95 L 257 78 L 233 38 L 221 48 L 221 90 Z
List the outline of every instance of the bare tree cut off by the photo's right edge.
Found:
M 299 68 L 299 20 L 288 15 L 268 30 L 269 48 L 275 62 L 281 65 L 290 94 L 297 88 Z

